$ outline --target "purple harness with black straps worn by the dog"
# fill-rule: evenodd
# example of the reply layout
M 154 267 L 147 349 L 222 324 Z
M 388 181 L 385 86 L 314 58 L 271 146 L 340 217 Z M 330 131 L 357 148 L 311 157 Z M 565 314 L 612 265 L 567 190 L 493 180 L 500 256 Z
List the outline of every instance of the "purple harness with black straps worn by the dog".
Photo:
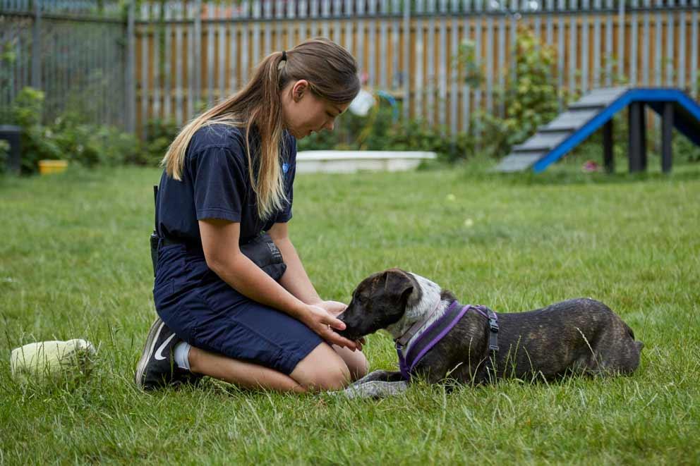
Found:
M 416 342 L 411 345 L 411 348 L 409 348 L 405 356 L 403 352 L 404 347 L 397 341 L 396 351 L 399 355 L 399 370 L 401 370 L 401 375 L 404 377 L 404 380 L 408 381 L 411 379 L 411 372 L 413 372 L 418 362 L 420 362 L 423 356 L 457 325 L 459 319 L 464 317 L 464 314 L 466 314 L 469 309 L 474 309 L 488 319 L 490 330 L 488 349 L 492 352 L 498 351 L 498 317 L 496 313 L 485 306 L 461 306 L 457 300 L 454 300 L 445 310 L 445 314 L 442 314 L 440 319 L 430 324 L 428 329 L 418 336 Z

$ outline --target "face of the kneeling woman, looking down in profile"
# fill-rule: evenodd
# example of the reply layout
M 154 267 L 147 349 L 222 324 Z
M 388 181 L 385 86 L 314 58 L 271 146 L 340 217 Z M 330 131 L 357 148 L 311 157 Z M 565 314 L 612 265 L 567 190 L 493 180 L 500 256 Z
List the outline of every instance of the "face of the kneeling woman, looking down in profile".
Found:
M 334 104 L 311 92 L 308 81 L 290 82 L 282 90 L 282 118 L 289 133 L 303 139 L 323 128 L 333 130 L 333 123 L 350 104 Z

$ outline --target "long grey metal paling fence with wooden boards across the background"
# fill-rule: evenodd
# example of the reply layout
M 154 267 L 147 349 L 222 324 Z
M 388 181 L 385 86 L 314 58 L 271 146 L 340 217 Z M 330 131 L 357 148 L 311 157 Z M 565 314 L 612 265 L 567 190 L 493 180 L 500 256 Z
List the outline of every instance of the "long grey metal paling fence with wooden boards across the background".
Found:
M 61 2 L 40 1 L 45 13 L 37 20 L 31 9 L 4 16 L 9 4 L 27 0 L 0 0 L 0 21 L 11 23 L 16 32 L 9 35 L 23 41 L 21 47 L 16 44 L 15 84 L 3 90 L 0 102 L 30 82 L 37 59 L 26 36 L 40 21 L 38 35 L 46 51 L 38 63 L 42 78 L 48 77 L 41 82 L 53 102 L 51 111 L 61 108 L 71 91 L 92 96 L 87 84 L 92 83 L 106 94 L 89 97 L 102 109 L 99 121 L 142 136 L 147 119 L 182 124 L 202 106 L 239 89 L 270 52 L 319 35 L 356 56 L 368 86 L 402 99 L 405 116 L 446 125 L 453 134 L 469 130 L 477 109 L 507 111 L 495 106 L 495 92 L 517 74 L 513 51 L 519 27 L 555 47 L 557 87 L 585 92 L 623 80 L 698 95 L 700 0 L 142 1 L 126 4 L 122 18 L 115 10 L 111 19 L 93 12 L 79 20 L 52 18 L 48 11 Z M 61 22 L 65 27 L 59 27 Z M 485 76 L 478 88 L 466 85 L 453 60 L 464 40 L 475 44 Z M 103 51 L 97 61 L 81 61 L 79 51 L 90 48 Z M 76 68 L 83 80 L 76 80 Z M 52 73 L 62 76 L 56 81 L 63 84 L 56 85 Z M 64 77 L 71 73 L 74 78 Z

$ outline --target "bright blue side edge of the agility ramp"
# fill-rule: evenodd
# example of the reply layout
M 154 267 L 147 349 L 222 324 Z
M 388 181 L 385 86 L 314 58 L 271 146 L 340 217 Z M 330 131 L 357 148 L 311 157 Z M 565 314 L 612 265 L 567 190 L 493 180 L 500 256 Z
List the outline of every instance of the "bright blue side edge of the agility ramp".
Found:
M 614 89 L 598 90 L 599 92 L 615 92 Z M 586 97 L 579 102 L 584 102 Z M 672 102 L 674 106 L 673 125 L 675 128 L 688 137 L 694 144 L 700 146 L 700 105 L 697 104 L 685 92 L 673 88 L 630 88 L 626 92 L 619 94 L 619 97 L 601 104 L 601 109 L 598 113 L 589 119 L 580 128 L 576 128 L 570 135 L 567 135 L 563 140 L 548 151 L 540 152 L 539 154 L 512 154 L 511 158 L 516 157 L 522 159 L 522 168 L 526 168 L 533 164 L 533 171 L 540 173 L 555 161 L 561 159 L 568 154 L 574 147 L 581 144 L 587 137 L 595 133 L 598 128 L 605 125 L 613 118 L 618 111 L 624 109 L 632 102 L 643 102 L 647 104 L 653 111 L 658 114 L 663 112 L 663 104 Z M 581 104 L 578 104 L 581 106 Z M 573 104 L 572 108 L 577 106 Z M 537 135 L 533 136 L 533 140 Z M 527 142 L 524 145 L 526 146 Z M 524 149 L 519 149 L 524 150 Z M 534 156 L 534 157 L 533 157 Z M 526 158 L 528 158 L 526 160 Z M 517 164 L 516 164 L 517 166 Z

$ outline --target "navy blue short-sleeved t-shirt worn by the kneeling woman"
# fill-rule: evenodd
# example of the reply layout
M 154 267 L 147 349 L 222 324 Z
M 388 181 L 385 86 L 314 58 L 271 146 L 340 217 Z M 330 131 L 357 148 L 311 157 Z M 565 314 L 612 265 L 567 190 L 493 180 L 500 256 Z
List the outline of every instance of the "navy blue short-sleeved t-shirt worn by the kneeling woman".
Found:
M 199 220 L 224 219 L 241 223 L 240 243 L 246 243 L 274 223 L 291 219 L 292 185 L 296 173 L 296 139 L 283 133 L 282 171 L 286 202 L 266 221 L 258 216 L 255 192 L 248 175 L 245 128 L 215 124 L 198 129 L 187 147 L 182 180 L 160 178 L 156 219 L 158 233 L 171 240 L 201 244 Z M 255 161 L 260 137 L 255 127 L 248 137 Z

